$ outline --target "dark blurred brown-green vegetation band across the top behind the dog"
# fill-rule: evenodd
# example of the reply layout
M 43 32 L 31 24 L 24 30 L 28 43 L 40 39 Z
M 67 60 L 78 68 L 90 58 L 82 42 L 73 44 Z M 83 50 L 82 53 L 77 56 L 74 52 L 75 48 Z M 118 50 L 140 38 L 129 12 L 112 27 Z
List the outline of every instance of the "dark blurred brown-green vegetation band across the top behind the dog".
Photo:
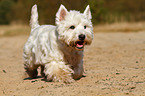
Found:
M 34 4 L 40 24 L 54 24 L 60 4 L 81 12 L 89 4 L 94 24 L 145 21 L 145 0 L 0 0 L 0 24 L 28 24 Z

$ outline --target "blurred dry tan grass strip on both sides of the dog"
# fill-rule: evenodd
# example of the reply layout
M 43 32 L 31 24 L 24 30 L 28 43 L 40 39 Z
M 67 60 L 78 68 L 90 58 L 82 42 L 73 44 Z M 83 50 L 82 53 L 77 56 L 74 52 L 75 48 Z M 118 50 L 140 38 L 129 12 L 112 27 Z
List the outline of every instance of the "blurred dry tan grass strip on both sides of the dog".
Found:
M 145 30 L 145 22 L 138 23 L 114 23 L 95 25 L 94 32 L 138 32 Z M 30 27 L 28 25 L 1 25 L 0 37 L 2 36 L 16 36 L 29 35 Z

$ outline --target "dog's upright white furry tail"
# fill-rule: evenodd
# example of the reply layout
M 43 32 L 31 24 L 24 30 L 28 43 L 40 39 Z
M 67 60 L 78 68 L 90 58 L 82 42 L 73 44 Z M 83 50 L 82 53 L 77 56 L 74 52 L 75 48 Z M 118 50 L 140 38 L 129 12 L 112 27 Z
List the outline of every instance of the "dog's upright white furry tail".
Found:
M 31 19 L 30 19 L 31 30 L 39 26 L 38 22 L 38 12 L 37 5 L 35 4 L 31 9 Z

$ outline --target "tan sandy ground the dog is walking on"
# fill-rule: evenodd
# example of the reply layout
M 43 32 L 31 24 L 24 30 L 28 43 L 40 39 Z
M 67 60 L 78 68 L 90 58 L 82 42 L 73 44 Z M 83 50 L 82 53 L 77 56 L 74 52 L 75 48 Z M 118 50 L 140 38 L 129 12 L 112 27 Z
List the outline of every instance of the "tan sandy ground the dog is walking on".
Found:
M 71 84 L 24 77 L 27 38 L 0 37 L 0 96 L 145 96 L 145 32 L 95 33 L 85 76 Z

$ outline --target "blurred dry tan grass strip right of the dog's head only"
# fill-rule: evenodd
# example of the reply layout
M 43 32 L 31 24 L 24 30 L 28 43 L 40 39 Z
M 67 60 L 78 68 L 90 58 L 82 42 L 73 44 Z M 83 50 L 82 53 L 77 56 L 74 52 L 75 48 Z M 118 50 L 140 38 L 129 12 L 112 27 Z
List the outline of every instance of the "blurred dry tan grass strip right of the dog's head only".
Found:
M 144 30 L 145 22 L 122 22 L 114 24 L 96 25 L 94 27 L 94 32 L 139 32 Z

